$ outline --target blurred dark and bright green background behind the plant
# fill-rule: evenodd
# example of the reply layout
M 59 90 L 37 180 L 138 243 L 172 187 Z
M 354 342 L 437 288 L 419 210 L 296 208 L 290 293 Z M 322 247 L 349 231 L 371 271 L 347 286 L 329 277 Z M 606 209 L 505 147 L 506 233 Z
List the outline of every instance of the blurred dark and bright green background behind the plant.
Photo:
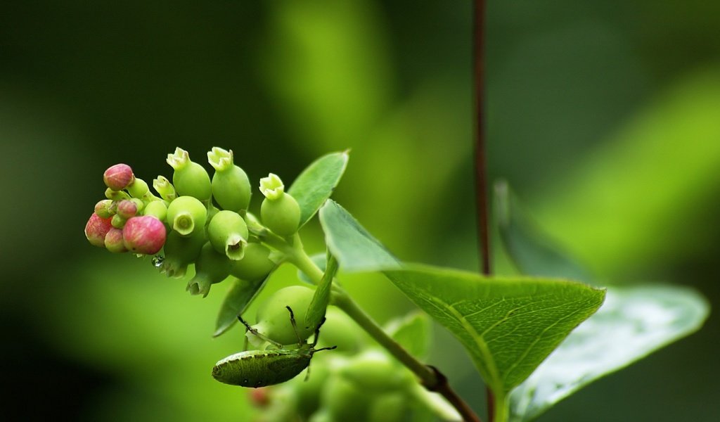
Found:
M 176 146 L 204 162 L 217 145 L 255 181 L 290 181 L 352 148 L 338 202 L 401 259 L 477 270 L 470 17 L 469 1 L 2 2 L 5 416 L 250 415 L 210 377 L 241 346 L 211 338 L 226 286 L 190 297 L 84 238 L 114 163 L 150 181 Z M 719 26 L 701 0 L 490 1 L 487 23 L 492 178 L 608 283 L 690 285 L 715 309 Z M 320 251 L 317 223 L 303 235 Z M 271 288 L 292 282 L 284 268 Z M 380 321 L 413 308 L 382 277 L 347 284 Z M 719 328 L 711 315 L 541 421 L 716 421 Z M 431 361 L 484 409 L 439 328 Z

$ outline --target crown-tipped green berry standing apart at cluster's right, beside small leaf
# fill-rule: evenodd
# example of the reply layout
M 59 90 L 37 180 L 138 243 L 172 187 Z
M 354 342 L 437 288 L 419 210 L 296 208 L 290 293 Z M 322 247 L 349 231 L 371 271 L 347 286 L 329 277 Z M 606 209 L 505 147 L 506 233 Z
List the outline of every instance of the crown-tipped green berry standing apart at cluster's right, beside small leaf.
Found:
M 260 192 L 265 195 L 260 217 L 274 233 L 289 236 L 300 227 L 300 205 L 284 189 L 284 184 L 275 174 L 260 179 Z

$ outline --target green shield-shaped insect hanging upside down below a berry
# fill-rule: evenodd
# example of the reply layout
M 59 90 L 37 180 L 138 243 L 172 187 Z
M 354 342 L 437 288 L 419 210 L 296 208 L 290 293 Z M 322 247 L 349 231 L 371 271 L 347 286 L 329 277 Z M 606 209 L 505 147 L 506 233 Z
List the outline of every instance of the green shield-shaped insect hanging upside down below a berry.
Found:
M 290 313 L 290 322 L 293 327 L 296 327 L 292 309 L 289 306 L 286 307 Z M 279 384 L 291 380 L 297 374 L 300 374 L 303 369 L 307 368 L 315 352 L 332 350 L 337 347 L 332 346 L 315 349 L 315 345 L 318 344 L 318 337 L 320 336 L 320 326 L 325 322 L 324 319 L 323 322 L 318 325 L 318 328 L 315 329 L 315 339 L 312 343 L 306 343 L 302 341 L 300 336 L 297 337 L 297 349 L 282 349 L 282 344 L 278 344 L 266 338 L 261 333 L 258 333 L 254 328 L 248 326 L 248 323 L 246 323 L 243 318 L 240 318 L 239 315 L 238 319 L 248 328 L 248 331 L 269 341 L 271 344 L 277 346 L 278 349 L 241 351 L 240 353 L 232 354 L 225 359 L 221 359 L 215 364 L 215 367 L 212 368 L 212 377 L 225 384 L 253 388 Z

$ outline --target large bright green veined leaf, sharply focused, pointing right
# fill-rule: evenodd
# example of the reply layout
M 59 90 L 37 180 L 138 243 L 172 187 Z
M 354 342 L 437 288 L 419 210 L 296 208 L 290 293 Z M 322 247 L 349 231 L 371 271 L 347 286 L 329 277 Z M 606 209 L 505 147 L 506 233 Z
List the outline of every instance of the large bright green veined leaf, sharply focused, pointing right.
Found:
M 603 289 L 567 280 L 428 266 L 385 274 L 459 339 L 497 396 L 526 380 L 605 297 Z

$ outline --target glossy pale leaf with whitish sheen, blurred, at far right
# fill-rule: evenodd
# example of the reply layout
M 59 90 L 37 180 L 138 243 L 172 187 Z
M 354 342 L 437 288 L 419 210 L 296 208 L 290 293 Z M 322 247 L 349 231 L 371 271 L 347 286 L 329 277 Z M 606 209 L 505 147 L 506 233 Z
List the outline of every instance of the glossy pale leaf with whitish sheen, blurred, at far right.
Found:
M 698 330 L 706 300 L 686 287 L 611 287 L 605 305 L 510 393 L 512 421 L 530 421 L 573 392 Z

